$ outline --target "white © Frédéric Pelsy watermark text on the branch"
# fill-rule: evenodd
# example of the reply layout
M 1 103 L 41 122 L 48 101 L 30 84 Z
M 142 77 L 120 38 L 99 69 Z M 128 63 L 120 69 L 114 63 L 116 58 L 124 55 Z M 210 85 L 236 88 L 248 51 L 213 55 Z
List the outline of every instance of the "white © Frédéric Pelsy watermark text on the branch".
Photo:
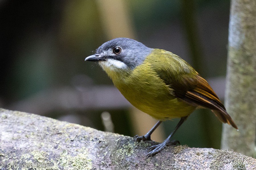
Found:
M 0 169 L 7 168 L 7 169 L 13 169 L 13 168 L 26 168 L 26 169 L 35 169 L 35 168 L 47 168 L 51 169 L 53 164 L 49 163 L 0 163 Z

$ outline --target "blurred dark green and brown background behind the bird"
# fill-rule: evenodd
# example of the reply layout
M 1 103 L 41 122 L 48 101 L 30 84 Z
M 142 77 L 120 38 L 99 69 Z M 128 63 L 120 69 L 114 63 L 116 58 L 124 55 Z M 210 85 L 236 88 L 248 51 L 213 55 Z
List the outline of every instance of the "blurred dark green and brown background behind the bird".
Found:
M 116 37 L 177 54 L 223 101 L 229 6 L 229 0 L 3 0 L 0 107 L 129 136 L 142 127 L 144 135 L 151 125 L 134 115 L 147 115 L 131 109 L 97 64 L 84 62 Z M 164 122 L 155 140 L 177 122 Z M 198 110 L 174 138 L 190 147 L 220 148 L 221 126 L 210 111 Z

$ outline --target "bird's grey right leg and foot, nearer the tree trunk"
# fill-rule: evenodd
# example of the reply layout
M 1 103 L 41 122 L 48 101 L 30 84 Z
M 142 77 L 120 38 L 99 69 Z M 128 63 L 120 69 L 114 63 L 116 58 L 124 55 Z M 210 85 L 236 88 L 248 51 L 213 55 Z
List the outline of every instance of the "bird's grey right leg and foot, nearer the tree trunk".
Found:
M 158 152 L 160 152 L 160 150 L 162 150 L 166 145 L 176 145 L 177 143 L 179 143 L 179 141 L 173 140 L 171 141 L 172 135 L 176 132 L 176 130 L 181 126 L 181 124 L 187 119 L 187 116 L 182 117 L 179 121 L 179 123 L 177 124 L 177 126 L 175 127 L 175 129 L 172 131 L 172 133 L 168 136 L 167 139 L 165 139 L 162 143 L 158 144 L 158 145 L 153 145 L 149 148 L 148 154 L 146 155 L 147 157 L 150 156 L 152 157 L 154 154 L 157 154 Z

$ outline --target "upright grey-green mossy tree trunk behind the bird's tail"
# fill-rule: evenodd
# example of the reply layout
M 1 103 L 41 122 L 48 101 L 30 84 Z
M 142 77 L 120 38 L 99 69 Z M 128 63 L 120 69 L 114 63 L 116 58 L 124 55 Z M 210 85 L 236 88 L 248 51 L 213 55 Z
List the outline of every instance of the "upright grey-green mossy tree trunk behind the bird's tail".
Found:
M 224 125 L 222 149 L 256 158 L 256 1 L 232 0 L 225 105 L 238 126 Z

